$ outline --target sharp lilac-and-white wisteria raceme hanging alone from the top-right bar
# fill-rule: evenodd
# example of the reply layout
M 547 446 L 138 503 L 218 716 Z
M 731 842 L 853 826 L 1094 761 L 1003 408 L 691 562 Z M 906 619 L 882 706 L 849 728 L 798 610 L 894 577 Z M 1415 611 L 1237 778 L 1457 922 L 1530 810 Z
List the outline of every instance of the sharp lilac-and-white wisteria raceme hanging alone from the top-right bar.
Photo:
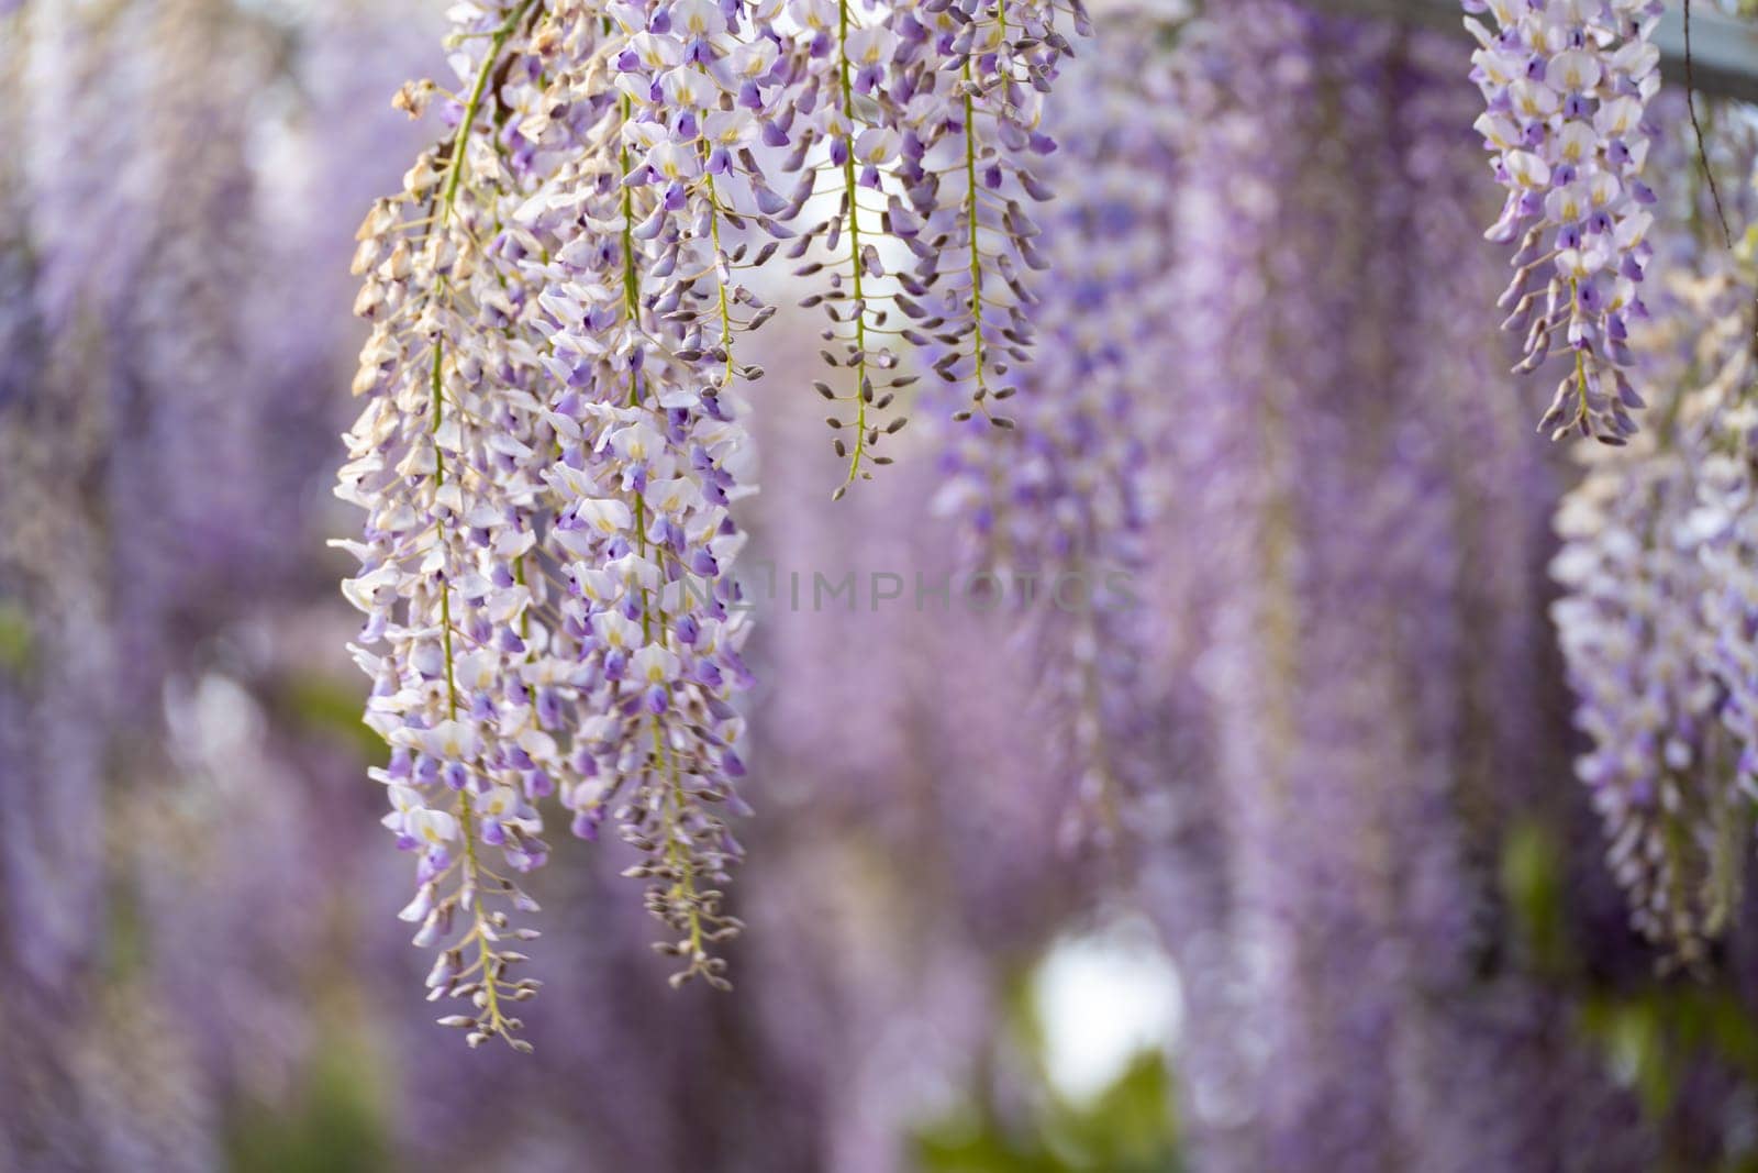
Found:
M 1508 193 L 1487 237 L 1517 243 L 1514 280 L 1498 302 L 1505 329 L 1524 334 L 1519 371 L 1552 350 L 1572 368 L 1540 431 L 1624 443 L 1631 410 L 1630 322 L 1645 310 L 1640 285 L 1653 248 L 1654 192 L 1642 181 L 1660 90 L 1651 42 L 1661 0 L 1464 0 L 1496 28 L 1466 25 L 1480 47 L 1471 79 L 1487 109 L 1477 120 Z

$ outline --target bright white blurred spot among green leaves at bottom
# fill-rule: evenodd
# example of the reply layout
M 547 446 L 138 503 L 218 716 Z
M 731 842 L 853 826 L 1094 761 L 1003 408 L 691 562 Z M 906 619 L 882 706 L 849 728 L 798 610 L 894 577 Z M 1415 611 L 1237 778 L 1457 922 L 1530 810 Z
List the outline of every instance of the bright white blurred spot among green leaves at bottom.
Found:
M 1099 1096 L 1137 1053 L 1169 1052 L 1183 1022 L 1178 971 L 1139 918 L 1053 946 L 1032 999 L 1050 1080 L 1076 1103 Z

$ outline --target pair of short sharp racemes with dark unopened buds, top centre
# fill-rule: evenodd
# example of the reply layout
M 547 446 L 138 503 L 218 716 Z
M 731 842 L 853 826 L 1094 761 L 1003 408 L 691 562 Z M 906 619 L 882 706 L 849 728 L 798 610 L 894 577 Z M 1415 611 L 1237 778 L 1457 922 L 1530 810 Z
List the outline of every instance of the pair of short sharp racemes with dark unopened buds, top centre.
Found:
M 1067 7 L 1088 32 L 1081 2 Z M 847 459 L 840 496 L 868 463 L 890 463 L 874 448 L 907 422 L 886 412 L 918 375 L 898 371 L 890 339 L 937 348 L 935 375 L 969 389 L 967 410 L 1011 426 L 990 406 L 1013 394 L 997 380 L 1032 341 L 1028 276 L 1044 260 L 1028 206 L 1050 199 L 1034 160 L 1055 149 L 1042 95 L 1071 49 L 1044 0 L 789 0 L 786 11 L 812 40 L 788 121 L 768 137 L 791 139 L 782 165 L 803 172 L 802 190 L 835 197 L 788 255 L 817 285 L 803 304 L 830 320 L 823 357 L 839 376 L 816 387 Z M 888 262 L 886 241 L 914 264 Z

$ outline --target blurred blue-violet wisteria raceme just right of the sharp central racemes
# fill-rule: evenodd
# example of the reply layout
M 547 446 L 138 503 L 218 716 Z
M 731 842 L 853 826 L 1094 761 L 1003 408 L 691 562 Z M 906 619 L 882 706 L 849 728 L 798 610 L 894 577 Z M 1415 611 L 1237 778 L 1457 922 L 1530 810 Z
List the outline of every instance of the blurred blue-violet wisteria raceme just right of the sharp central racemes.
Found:
M 1159 33 L 1151 18 L 1113 14 L 1093 51 L 1065 69 L 1060 84 L 1081 100 L 1057 109 L 1064 146 L 1044 174 L 1058 200 L 1032 244 L 1055 280 L 1014 331 L 1046 345 L 1020 373 L 1011 431 L 951 426 L 937 499 L 965 528 L 974 570 L 995 575 L 1006 596 L 995 605 L 1027 630 L 1046 746 L 1071 774 L 1071 832 L 1106 841 L 1134 790 L 1115 746 L 1141 732 L 1146 647 L 1134 593 L 1160 496 L 1150 454 L 1166 436 L 1166 378 L 1178 362 L 1162 329 L 1178 273 L 1176 206 L 1162 185 L 1178 179 L 1183 123 Z

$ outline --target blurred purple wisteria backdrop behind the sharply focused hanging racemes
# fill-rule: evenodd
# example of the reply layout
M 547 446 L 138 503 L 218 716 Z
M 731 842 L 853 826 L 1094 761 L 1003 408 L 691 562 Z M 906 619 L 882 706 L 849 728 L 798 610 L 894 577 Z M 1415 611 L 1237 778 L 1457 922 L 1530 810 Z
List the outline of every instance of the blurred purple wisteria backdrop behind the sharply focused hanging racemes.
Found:
M 1645 440 L 1582 457 L 1507 375 L 1468 40 L 1095 11 L 1018 429 L 923 392 L 832 503 L 765 290 L 737 988 L 668 988 L 633 851 L 557 851 L 522 1057 L 413 994 L 325 547 L 445 12 L 0 2 L 0 1169 L 1758 1169 L 1758 758 L 1667 610 L 1751 243 L 1682 91 Z M 974 550 L 1109 594 L 941 593 Z

